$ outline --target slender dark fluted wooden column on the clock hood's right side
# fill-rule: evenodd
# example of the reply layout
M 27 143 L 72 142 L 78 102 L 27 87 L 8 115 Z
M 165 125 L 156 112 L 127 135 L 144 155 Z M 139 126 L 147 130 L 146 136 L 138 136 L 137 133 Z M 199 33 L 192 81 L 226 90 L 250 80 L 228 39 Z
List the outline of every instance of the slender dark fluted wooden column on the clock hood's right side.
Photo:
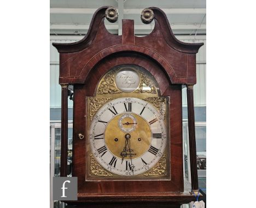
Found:
M 196 164 L 195 113 L 194 113 L 194 96 L 193 96 L 192 84 L 187 85 L 187 101 L 188 101 L 191 187 L 194 191 L 198 191 L 199 188 L 198 188 L 198 176 L 197 176 L 197 164 Z

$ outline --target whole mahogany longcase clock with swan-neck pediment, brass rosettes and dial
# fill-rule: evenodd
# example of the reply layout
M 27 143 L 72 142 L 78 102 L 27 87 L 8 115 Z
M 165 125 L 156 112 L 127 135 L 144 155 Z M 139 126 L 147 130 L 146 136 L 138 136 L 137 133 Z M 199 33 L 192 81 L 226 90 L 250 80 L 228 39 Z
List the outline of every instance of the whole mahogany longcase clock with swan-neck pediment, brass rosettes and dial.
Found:
M 198 191 L 193 85 L 196 53 L 202 44 L 177 40 L 159 8 L 141 13 L 155 21 L 152 33 L 134 35 L 133 20 L 123 34 L 110 34 L 104 19 L 117 9 L 102 7 L 86 36 L 53 44 L 60 53 L 62 86 L 61 176 L 67 175 L 67 95 L 73 95 L 75 207 L 179 207 L 194 200 L 184 189 L 182 85 L 187 85 L 191 188 Z

